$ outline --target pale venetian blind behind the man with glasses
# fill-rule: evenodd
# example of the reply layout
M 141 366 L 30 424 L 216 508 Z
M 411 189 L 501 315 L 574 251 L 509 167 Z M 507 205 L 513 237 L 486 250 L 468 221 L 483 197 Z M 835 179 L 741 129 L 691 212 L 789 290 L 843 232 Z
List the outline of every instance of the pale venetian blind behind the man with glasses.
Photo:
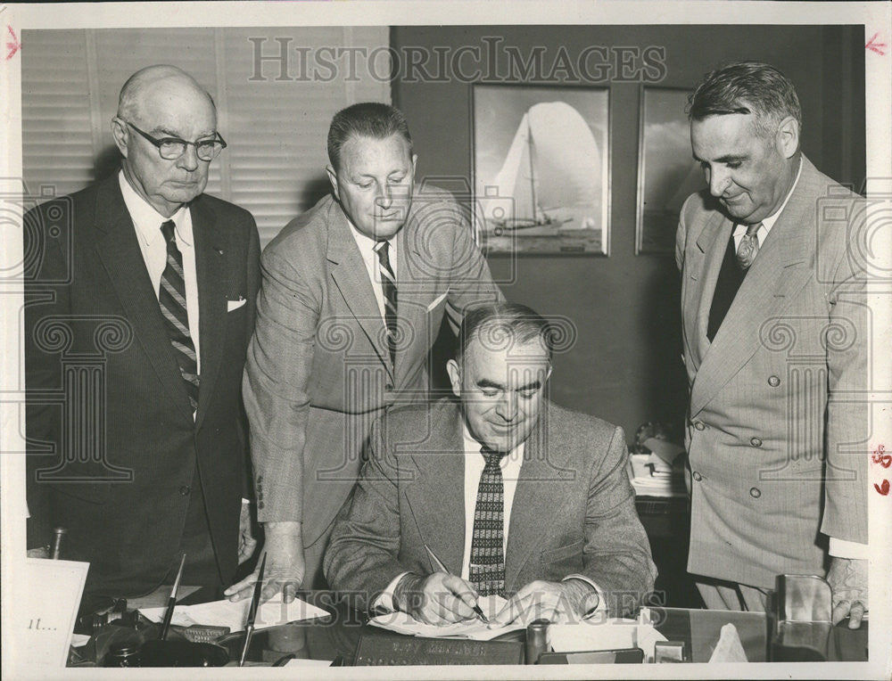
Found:
M 326 193 L 335 111 L 390 102 L 386 27 L 31 30 L 22 45 L 30 193 L 41 185 L 71 193 L 114 172 L 110 126 L 120 86 L 140 68 L 169 63 L 217 103 L 228 147 L 211 164 L 205 191 L 250 210 L 264 245 Z M 351 62 L 337 59 L 346 52 Z M 366 54 L 377 55 L 371 68 Z

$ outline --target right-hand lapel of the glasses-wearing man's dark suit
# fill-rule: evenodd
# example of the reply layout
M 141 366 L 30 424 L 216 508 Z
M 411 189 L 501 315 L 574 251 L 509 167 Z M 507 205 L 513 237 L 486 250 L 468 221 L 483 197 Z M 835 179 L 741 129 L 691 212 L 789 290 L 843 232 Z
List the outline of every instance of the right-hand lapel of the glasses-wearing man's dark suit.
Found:
M 217 382 L 220 361 L 226 348 L 226 242 L 215 225 L 214 216 L 201 198 L 190 207 L 195 241 L 195 278 L 198 285 L 199 352 L 202 357 L 202 382 L 198 391 L 196 428 L 204 414 Z

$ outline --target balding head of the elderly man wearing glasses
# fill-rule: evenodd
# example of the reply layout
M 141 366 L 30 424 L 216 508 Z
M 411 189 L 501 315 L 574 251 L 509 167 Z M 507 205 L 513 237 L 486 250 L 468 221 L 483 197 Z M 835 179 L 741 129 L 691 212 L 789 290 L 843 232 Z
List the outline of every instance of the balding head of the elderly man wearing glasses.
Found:
M 195 143 L 217 137 L 217 110 L 185 71 L 167 65 L 136 71 L 120 90 L 111 134 L 129 184 L 162 216 L 204 191 L 210 161 L 198 158 Z M 189 144 L 178 158 L 162 159 L 164 139 Z

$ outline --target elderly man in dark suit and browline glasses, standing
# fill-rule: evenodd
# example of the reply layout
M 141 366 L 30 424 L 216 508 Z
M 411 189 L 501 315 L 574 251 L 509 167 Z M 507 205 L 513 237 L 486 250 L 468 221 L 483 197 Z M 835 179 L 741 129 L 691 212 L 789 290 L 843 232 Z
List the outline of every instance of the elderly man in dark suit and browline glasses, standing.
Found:
M 65 528 L 88 596 L 150 592 L 186 554 L 181 583 L 215 598 L 255 546 L 240 384 L 257 227 L 203 193 L 226 142 L 182 70 L 131 76 L 111 134 L 120 173 L 25 218 L 27 388 L 62 396 L 28 407 L 29 548 Z

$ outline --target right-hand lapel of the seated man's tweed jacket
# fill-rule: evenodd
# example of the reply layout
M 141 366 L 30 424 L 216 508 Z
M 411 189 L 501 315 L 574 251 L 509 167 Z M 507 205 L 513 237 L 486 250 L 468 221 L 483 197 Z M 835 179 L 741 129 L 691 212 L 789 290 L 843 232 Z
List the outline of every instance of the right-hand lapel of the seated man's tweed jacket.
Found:
M 548 536 L 551 519 L 566 500 L 563 485 L 556 483 L 575 474 L 566 466 L 566 447 L 559 447 L 549 436 L 548 412 L 548 404 L 543 405 L 540 421 L 526 439 L 524 465 L 511 505 L 505 552 L 505 588 L 509 593 L 524 586 L 517 582 L 521 570 L 541 552 L 542 537 Z

